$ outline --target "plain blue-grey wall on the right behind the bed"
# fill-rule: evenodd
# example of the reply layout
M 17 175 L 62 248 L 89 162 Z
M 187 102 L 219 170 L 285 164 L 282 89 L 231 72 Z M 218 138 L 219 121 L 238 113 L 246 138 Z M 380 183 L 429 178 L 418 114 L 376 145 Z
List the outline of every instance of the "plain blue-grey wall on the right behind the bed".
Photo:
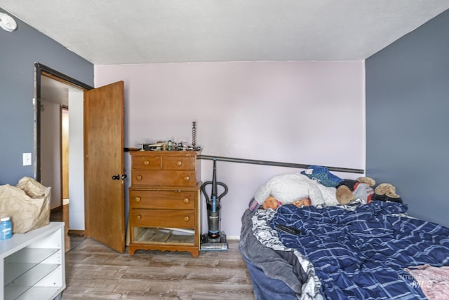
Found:
M 367 175 L 449 226 L 449 11 L 366 60 Z M 380 182 L 378 182 L 380 183 Z

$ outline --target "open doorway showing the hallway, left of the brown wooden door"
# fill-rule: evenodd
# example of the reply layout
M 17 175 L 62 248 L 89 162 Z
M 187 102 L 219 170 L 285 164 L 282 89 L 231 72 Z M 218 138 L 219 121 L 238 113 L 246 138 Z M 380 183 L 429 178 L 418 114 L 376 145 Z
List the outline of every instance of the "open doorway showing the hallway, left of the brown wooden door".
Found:
M 35 69 L 34 177 L 52 186 L 51 208 L 62 207 L 64 198 L 71 199 L 66 229 L 83 233 L 83 91 L 92 87 L 39 63 Z M 64 140 L 68 150 L 62 146 Z M 67 192 L 71 186 L 73 193 Z

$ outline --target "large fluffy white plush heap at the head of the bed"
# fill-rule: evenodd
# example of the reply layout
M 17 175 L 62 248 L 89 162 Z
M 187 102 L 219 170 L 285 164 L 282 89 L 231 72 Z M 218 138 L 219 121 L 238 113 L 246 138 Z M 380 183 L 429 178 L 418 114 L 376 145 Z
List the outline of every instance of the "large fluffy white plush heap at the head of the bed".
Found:
M 309 198 L 311 205 L 338 205 L 334 187 L 323 186 L 314 179 L 301 173 L 275 176 L 260 186 L 255 192 L 257 203 L 264 203 L 268 196 L 273 196 L 283 204 L 289 204 L 303 198 Z

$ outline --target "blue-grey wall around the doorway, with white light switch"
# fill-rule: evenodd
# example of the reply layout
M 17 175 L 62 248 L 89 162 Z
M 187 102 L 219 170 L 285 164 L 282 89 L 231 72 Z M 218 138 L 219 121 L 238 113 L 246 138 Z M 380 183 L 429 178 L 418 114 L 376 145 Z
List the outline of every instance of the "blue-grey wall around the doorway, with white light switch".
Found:
M 0 8 L 1 13 L 6 11 Z M 93 64 L 15 18 L 18 29 L 0 28 L 0 184 L 34 177 L 22 153 L 34 154 L 34 62 L 93 86 Z

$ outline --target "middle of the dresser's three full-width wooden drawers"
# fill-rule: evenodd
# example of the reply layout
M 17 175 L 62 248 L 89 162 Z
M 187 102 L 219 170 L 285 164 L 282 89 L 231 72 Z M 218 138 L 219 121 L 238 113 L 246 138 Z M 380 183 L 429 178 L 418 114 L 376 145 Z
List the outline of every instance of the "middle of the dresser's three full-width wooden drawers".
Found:
M 129 191 L 131 208 L 193 210 L 195 200 L 195 191 L 148 191 L 139 189 L 130 189 Z

